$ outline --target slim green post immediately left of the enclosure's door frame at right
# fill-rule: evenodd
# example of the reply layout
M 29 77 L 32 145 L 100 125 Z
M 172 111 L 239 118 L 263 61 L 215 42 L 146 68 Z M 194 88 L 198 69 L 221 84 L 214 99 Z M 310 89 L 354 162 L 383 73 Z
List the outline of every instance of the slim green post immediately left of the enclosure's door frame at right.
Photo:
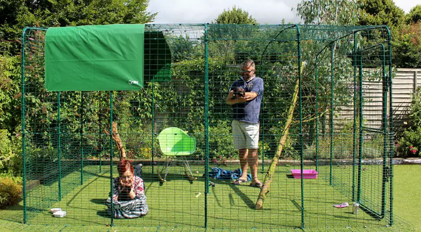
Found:
M 354 33 L 354 54 L 353 64 L 354 67 L 354 124 L 353 124 L 353 138 L 352 138 L 352 201 L 355 201 L 355 167 L 356 153 L 357 153 L 357 33 Z

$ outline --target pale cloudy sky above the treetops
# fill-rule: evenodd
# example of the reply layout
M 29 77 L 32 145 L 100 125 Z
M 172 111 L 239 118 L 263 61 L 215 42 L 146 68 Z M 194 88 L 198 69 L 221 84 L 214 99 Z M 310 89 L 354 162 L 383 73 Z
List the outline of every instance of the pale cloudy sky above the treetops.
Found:
M 291 11 L 300 0 L 149 0 L 149 12 L 158 12 L 154 23 L 211 23 L 224 9 L 234 5 L 247 11 L 258 23 L 299 23 Z M 421 0 L 394 0 L 408 13 Z

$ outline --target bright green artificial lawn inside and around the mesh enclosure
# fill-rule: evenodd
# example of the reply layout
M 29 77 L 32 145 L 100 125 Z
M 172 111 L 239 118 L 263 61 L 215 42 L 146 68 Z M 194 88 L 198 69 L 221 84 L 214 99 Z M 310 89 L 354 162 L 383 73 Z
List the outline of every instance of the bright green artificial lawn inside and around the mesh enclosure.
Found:
M 225 169 L 234 170 L 236 166 L 221 166 Z M 377 173 L 378 166 L 373 166 L 374 171 L 365 170 L 366 173 Z M 109 172 L 103 170 L 101 174 L 87 168 L 86 181 L 82 186 L 77 186 L 66 194 L 59 202 L 53 202 L 51 208 L 60 207 L 68 212 L 64 218 L 54 218 L 51 213 L 44 210 L 29 213 L 30 225 L 13 223 L 22 217 L 22 207 L 15 206 L 8 210 L 0 211 L 1 224 L 10 230 L 23 228 L 42 228 L 52 231 L 132 231 L 127 226 L 136 226 L 141 230 L 162 231 L 190 230 L 204 231 L 205 219 L 205 194 L 202 178 L 190 184 L 181 175 L 181 167 L 172 167 L 167 182 L 160 185 L 156 175 L 151 175 L 150 167 L 144 167 L 143 178 L 145 179 L 146 195 L 150 212 L 143 218 L 138 219 L 115 219 L 114 227 L 107 227 L 110 218 L 106 215 L 104 201 L 109 191 Z M 287 177 L 291 166 L 279 166 L 272 183 L 271 192 L 268 194 L 263 210 L 255 210 L 253 206 L 259 194 L 258 188 L 247 185 L 233 186 L 228 181 L 215 181 L 216 186 L 210 187 L 208 195 L 208 228 L 216 230 L 243 229 L 243 230 L 269 230 L 284 228 L 280 231 L 300 231 L 301 226 L 301 190 L 300 180 Z M 311 167 L 306 167 L 311 168 Z M 327 167 L 324 167 L 327 168 Z M 195 167 L 193 167 L 195 171 Z M 407 171 L 410 170 L 410 171 Z M 337 175 L 349 177 L 351 168 L 335 167 Z M 199 170 L 202 171 L 202 170 Z M 420 179 L 415 180 L 416 173 L 420 173 L 421 166 L 395 166 L 395 215 L 404 218 L 414 226 L 417 224 L 417 203 L 421 202 Z M 327 170 L 321 168 L 319 173 L 324 174 Z M 91 175 L 88 175 L 91 173 Z M 115 170 L 114 170 L 114 173 Z M 263 174 L 260 174 L 263 178 Z M 368 175 L 368 174 L 366 174 Z M 408 175 L 408 176 L 406 176 Z M 79 173 L 71 173 L 63 182 L 76 182 Z M 200 176 L 200 174 L 198 175 Z M 351 214 L 350 208 L 336 209 L 333 204 L 349 201 L 345 191 L 338 191 L 328 185 L 329 180 L 323 180 L 322 175 L 316 180 L 304 180 L 305 192 L 305 226 L 311 228 L 308 231 L 348 230 L 348 231 L 383 231 L 384 221 L 374 220 L 365 212 Z M 336 189 L 341 189 L 343 183 L 333 183 Z M 364 184 L 363 184 L 364 185 Z M 54 185 L 39 186 L 38 195 L 55 189 Z M 417 190 L 418 188 L 418 190 Z M 201 192 L 200 195 L 197 192 Z M 418 194 L 418 195 L 417 195 Z M 196 197 L 198 196 L 198 197 Z M 409 200 L 403 200 L 405 198 Z M 412 196 L 418 196 L 413 198 Z M 41 199 L 45 196 L 30 197 L 31 201 L 45 202 Z M 53 199 L 54 197 L 49 197 Z M 418 199 L 418 200 L 417 200 Z M 38 203 L 38 202 L 37 202 Z M 22 204 L 22 203 L 21 203 Z M 410 210 L 408 210 L 410 209 Z M 414 219 L 414 221 L 410 220 Z M 39 225 L 45 226 L 39 226 Z M 80 227 L 85 226 L 85 227 Z M 395 230 L 411 230 L 408 224 L 395 217 Z

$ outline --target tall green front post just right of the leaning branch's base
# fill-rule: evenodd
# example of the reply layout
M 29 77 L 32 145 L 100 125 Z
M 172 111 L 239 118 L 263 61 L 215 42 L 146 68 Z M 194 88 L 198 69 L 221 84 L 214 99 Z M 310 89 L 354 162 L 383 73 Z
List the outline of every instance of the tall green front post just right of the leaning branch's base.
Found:
M 297 49 L 298 49 L 298 101 L 300 104 L 300 169 L 301 169 L 301 228 L 305 228 L 304 224 L 304 157 L 303 157 L 303 112 L 302 112 L 302 85 L 301 85 L 301 33 L 300 28 L 297 26 Z

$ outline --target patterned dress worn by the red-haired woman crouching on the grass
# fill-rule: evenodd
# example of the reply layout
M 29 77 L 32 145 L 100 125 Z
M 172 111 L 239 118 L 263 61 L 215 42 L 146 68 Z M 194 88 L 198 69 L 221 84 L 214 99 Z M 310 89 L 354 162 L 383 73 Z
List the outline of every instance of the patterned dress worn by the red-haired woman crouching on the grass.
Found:
M 113 215 L 114 218 L 136 218 L 149 212 L 143 180 L 140 177 L 134 176 L 132 189 L 136 196 L 133 199 L 127 199 L 126 196 L 122 197 L 125 192 L 123 192 L 124 188 L 119 185 L 118 177 L 113 180 L 112 189 L 112 204 L 111 198 L 106 201 L 109 215 Z

